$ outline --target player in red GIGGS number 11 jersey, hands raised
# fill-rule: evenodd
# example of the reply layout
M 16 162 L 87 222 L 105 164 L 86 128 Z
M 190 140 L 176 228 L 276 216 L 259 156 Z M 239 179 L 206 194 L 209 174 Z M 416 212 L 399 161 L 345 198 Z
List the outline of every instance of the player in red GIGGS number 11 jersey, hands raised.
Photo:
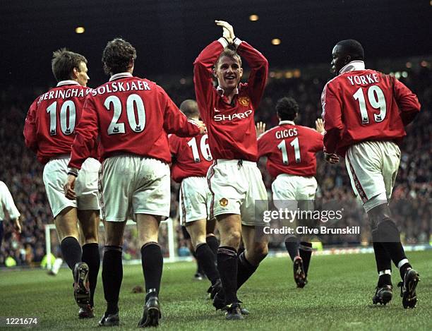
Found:
M 296 125 L 294 119 L 299 113 L 299 104 L 292 97 L 278 100 L 276 111 L 279 125 L 258 138 L 258 155 L 268 157 L 267 169 L 275 178 L 273 202 L 278 209 L 313 210 L 318 186 L 314 177 L 316 153 L 323 150 L 323 122 L 316 121 L 316 131 Z M 308 221 L 298 219 L 298 222 L 302 220 Z M 302 288 L 307 282 L 312 243 L 304 237 L 299 244 L 296 236 L 288 235 L 285 247 L 294 263 L 294 280 L 297 287 Z

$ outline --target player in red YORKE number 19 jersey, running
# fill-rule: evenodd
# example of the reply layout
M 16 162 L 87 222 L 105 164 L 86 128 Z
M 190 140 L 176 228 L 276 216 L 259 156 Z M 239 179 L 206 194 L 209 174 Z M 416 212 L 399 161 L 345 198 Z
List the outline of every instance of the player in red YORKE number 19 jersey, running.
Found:
M 335 163 L 337 155 L 345 157 L 354 193 L 368 213 L 379 274 L 373 303 L 392 299 L 393 261 L 402 277 L 402 305 L 414 308 L 419 274 L 404 253 L 388 200 L 400 163 L 398 144 L 406 135 L 404 126 L 420 111 L 419 101 L 399 80 L 366 69 L 363 47 L 356 40 L 338 42 L 331 65 L 337 76 L 321 97 L 325 160 Z

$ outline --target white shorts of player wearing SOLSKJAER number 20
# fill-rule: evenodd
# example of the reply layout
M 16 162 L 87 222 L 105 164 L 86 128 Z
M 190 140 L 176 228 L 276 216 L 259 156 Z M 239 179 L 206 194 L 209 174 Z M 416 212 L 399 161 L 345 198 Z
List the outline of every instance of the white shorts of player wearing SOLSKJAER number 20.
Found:
M 124 222 L 131 214 L 169 217 L 169 167 L 138 155 L 117 155 L 102 162 L 99 174 L 102 217 Z

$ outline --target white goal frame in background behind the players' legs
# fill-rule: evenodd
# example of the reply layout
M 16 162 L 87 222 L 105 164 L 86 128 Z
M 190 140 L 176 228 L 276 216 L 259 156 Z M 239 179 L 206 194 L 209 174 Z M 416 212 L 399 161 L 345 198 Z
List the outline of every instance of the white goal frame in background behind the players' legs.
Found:
M 167 229 L 167 247 L 164 247 L 164 243 L 161 244 L 162 248 L 164 248 L 165 253 L 168 253 L 168 256 L 164 258 L 164 263 L 172 263 L 176 262 L 177 260 L 183 260 L 176 256 L 175 254 L 175 238 L 174 238 L 174 221 L 171 217 L 164 220 L 160 224 L 160 230 L 159 235 L 161 236 L 162 232 L 164 231 L 164 227 Z M 52 240 L 51 240 L 51 231 L 55 230 L 56 226 L 54 224 L 45 224 L 45 247 L 47 248 L 47 256 L 50 257 L 52 254 Z M 131 219 L 126 222 L 126 228 L 125 228 L 125 242 L 127 242 L 126 237 L 133 238 L 133 232 L 136 231 L 136 222 L 133 222 Z M 163 234 L 162 234 L 163 235 Z M 56 234 L 55 234 L 56 236 Z M 100 237 L 99 241 L 103 241 L 104 238 L 104 224 L 100 222 Z M 135 239 L 135 238 L 133 238 Z M 124 252 L 125 254 L 128 252 Z M 130 254 L 128 254 L 130 255 Z M 125 260 L 126 262 L 126 260 Z M 126 263 L 130 264 L 138 264 L 141 263 L 140 257 L 138 256 L 131 256 L 129 260 L 127 260 Z M 47 258 L 47 268 L 51 269 L 51 258 Z

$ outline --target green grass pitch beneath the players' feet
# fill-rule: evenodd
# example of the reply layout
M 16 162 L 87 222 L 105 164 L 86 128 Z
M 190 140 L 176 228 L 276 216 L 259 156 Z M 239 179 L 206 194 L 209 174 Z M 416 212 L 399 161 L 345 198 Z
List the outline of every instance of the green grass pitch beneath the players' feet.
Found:
M 193 280 L 194 263 L 166 264 L 160 330 L 432 330 L 432 251 L 409 253 L 409 259 L 419 271 L 421 282 L 417 307 L 405 310 L 397 288 L 397 270 L 392 277 L 392 301 L 387 306 L 372 305 L 376 271 L 371 254 L 313 257 L 304 289 L 296 289 L 288 258 L 267 258 L 239 291 L 239 299 L 251 315 L 236 321 L 224 320 L 224 315 L 205 299 L 208 281 Z M 104 313 L 101 276 L 96 318 L 78 320 L 69 270 L 62 269 L 56 277 L 44 270 L 0 273 L 3 318 L 36 316 L 38 330 L 83 330 L 97 327 Z M 121 330 L 136 329 L 143 312 L 143 294 L 131 290 L 142 284 L 140 265 L 125 265 Z

